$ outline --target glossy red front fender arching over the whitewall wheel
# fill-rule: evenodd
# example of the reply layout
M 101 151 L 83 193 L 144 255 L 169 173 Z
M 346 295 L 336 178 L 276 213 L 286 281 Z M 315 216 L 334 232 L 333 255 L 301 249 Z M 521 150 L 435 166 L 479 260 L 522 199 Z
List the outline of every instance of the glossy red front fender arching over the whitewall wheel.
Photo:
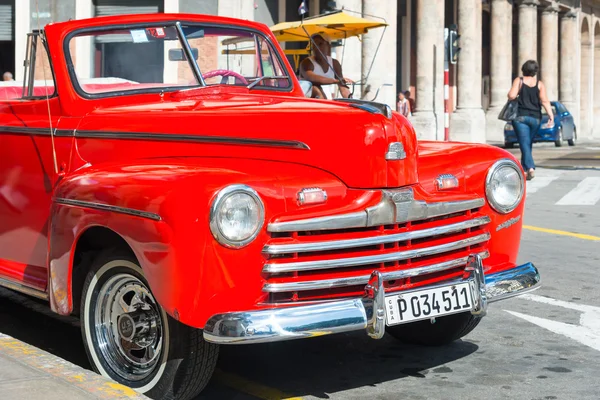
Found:
M 239 250 L 221 246 L 209 228 L 212 201 L 230 184 L 254 188 L 267 218 L 258 237 Z M 52 308 L 60 314 L 72 311 L 75 249 L 81 235 L 96 226 L 128 243 L 157 301 L 181 322 L 203 327 L 215 313 L 255 308 L 264 296 L 267 223 L 290 208 L 290 186 L 315 184 L 346 191 L 324 171 L 260 160 L 153 159 L 80 169 L 63 179 L 55 194 L 49 260 Z

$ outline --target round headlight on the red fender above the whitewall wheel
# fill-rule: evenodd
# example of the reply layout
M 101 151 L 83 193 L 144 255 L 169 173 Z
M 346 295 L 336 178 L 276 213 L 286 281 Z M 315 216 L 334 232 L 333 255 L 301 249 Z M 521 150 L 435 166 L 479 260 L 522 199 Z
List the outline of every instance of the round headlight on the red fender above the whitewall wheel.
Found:
M 240 248 L 250 243 L 263 226 L 265 210 L 258 193 L 246 185 L 222 189 L 210 210 L 210 230 L 219 243 Z

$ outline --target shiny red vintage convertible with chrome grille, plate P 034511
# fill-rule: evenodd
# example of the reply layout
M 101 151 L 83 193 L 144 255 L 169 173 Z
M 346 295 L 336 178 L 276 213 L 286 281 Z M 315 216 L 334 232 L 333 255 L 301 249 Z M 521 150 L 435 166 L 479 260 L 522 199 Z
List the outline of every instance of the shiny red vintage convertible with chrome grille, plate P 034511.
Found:
M 511 154 L 306 98 L 262 24 L 49 24 L 25 66 L 0 86 L 0 285 L 79 316 L 139 392 L 195 396 L 220 344 L 448 343 L 539 286 Z

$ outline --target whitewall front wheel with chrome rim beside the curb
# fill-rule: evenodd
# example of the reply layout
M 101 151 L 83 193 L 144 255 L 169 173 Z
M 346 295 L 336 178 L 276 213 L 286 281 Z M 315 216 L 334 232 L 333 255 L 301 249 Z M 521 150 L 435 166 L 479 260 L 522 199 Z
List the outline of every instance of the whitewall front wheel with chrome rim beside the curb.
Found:
M 156 399 L 190 399 L 208 383 L 218 345 L 169 317 L 137 261 L 100 254 L 83 285 L 81 332 L 92 367 Z

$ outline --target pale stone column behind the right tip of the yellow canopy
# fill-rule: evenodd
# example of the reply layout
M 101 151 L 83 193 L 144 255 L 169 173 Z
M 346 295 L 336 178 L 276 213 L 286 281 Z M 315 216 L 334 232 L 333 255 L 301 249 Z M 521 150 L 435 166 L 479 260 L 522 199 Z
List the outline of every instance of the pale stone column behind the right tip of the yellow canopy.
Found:
M 373 100 L 378 88 L 381 88 L 375 98 L 376 102 L 389 105 L 392 110 L 396 109 L 396 28 L 395 21 L 398 8 L 396 0 L 363 0 L 362 10 L 364 15 L 392 16 L 394 20 L 389 22 L 385 33 L 382 29 L 374 29 L 363 36 L 362 42 L 362 74 L 366 79 L 363 86 L 363 99 Z M 368 18 L 368 17 L 367 17 Z M 383 40 L 379 46 L 379 40 L 383 33 Z M 369 72 L 370 70 L 370 72 Z M 385 84 L 386 86 L 381 86 Z M 388 86 L 389 85 L 389 86 Z M 355 96 L 357 97 L 357 96 Z

